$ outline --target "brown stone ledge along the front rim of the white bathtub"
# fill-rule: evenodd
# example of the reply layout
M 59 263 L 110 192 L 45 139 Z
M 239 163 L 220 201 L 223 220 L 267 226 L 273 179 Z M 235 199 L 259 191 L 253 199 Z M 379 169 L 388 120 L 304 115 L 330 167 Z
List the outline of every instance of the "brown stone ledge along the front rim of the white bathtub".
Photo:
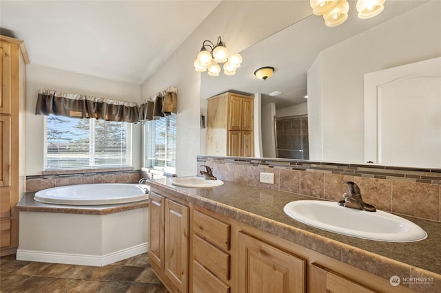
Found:
M 129 202 L 126 204 L 102 204 L 90 206 L 72 206 L 65 204 L 45 204 L 34 200 L 34 192 L 28 192 L 20 199 L 15 209 L 19 212 L 39 212 L 39 213 L 64 213 L 81 215 L 107 215 L 119 213 L 123 210 L 133 210 L 135 208 L 145 208 L 149 205 L 148 199 L 139 202 Z

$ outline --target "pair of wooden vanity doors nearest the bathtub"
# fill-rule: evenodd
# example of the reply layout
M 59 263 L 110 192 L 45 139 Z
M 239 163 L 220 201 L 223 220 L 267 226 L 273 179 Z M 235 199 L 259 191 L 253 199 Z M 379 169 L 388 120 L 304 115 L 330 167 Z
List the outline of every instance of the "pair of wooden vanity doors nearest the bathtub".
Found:
M 173 292 L 188 291 L 189 207 L 156 193 L 149 199 L 149 259 Z

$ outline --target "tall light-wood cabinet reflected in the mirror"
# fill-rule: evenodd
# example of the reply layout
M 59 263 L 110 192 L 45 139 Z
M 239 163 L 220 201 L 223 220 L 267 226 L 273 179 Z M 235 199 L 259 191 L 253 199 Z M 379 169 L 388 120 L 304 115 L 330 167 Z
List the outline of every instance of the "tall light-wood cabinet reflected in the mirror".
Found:
M 254 157 L 254 97 L 227 92 L 208 99 L 207 154 Z

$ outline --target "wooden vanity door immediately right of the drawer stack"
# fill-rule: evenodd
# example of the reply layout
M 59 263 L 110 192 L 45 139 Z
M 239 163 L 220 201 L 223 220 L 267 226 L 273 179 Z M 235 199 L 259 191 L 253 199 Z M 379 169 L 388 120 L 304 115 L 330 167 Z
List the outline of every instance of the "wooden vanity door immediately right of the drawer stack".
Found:
M 305 292 L 305 260 L 243 233 L 238 242 L 238 292 Z

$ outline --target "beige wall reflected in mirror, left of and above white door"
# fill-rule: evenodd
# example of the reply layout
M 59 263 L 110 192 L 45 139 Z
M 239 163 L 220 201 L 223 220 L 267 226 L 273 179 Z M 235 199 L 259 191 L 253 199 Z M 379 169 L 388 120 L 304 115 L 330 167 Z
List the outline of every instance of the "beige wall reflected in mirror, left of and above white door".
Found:
M 440 11 L 431 1 L 320 53 L 308 72 L 308 115 L 322 119 L 309 123 L 322 133 L 311 160 L 363 162 L 364 74 L 441 56 Z

